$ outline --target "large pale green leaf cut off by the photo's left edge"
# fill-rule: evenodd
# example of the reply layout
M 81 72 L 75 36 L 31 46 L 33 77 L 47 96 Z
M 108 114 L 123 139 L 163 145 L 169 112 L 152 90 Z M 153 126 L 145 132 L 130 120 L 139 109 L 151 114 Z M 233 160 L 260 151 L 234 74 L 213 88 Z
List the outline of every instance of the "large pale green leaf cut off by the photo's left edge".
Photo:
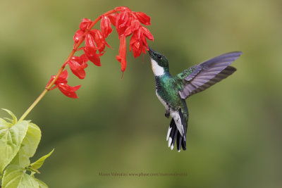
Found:
M 27 121 L 21 121 L 8 127 L 0 125 L 0 173 L 12 159 L 16 156 L 20 149 L 20 144 L 27 132 Z

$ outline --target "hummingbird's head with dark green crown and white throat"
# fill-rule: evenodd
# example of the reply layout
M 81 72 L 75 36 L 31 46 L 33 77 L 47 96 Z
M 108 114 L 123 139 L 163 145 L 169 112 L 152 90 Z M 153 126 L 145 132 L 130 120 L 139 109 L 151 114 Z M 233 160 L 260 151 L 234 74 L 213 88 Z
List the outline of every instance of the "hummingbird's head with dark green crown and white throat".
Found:
M 149 56 L 151 58 L 152 70 L 154 72 L 154 75 L 161 76 L 164 75 L 164 73 L 168 73 L 168 60 L 166 56 L 162 55 L 157 51 L 154 51 L 150 47 Z

